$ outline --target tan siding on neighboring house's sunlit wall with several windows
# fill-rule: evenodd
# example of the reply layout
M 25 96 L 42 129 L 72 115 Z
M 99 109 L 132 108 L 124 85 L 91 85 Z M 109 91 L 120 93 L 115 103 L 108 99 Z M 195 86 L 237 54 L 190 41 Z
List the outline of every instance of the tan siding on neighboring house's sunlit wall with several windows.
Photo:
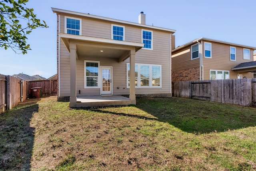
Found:
M 209 41 L 206 41 L 209 42 Z M 250 60 L 243 59 L 243 47 L 233 46 L 228 44 L 221 44 L 217 42 L 212 43 L 212 58 L 204 58 L 204 42 L 202 51 L 202 64 L 204 66 L 204 80 L 210 79 L 210 70 L 222 70 L 229 71 L 230 79 L 236 79 L 238 72 L 231 70 L 231 68 L 237 66 L 243 62 L 252 61 L 253 50 L 250 49 Z M 230 61 L 230 46 L 236 48 L 236 61 Z M 241 74 L 241 73 L 240 73 Z M 252 78 L 251 73 L 243 73 L 243 77 Z

